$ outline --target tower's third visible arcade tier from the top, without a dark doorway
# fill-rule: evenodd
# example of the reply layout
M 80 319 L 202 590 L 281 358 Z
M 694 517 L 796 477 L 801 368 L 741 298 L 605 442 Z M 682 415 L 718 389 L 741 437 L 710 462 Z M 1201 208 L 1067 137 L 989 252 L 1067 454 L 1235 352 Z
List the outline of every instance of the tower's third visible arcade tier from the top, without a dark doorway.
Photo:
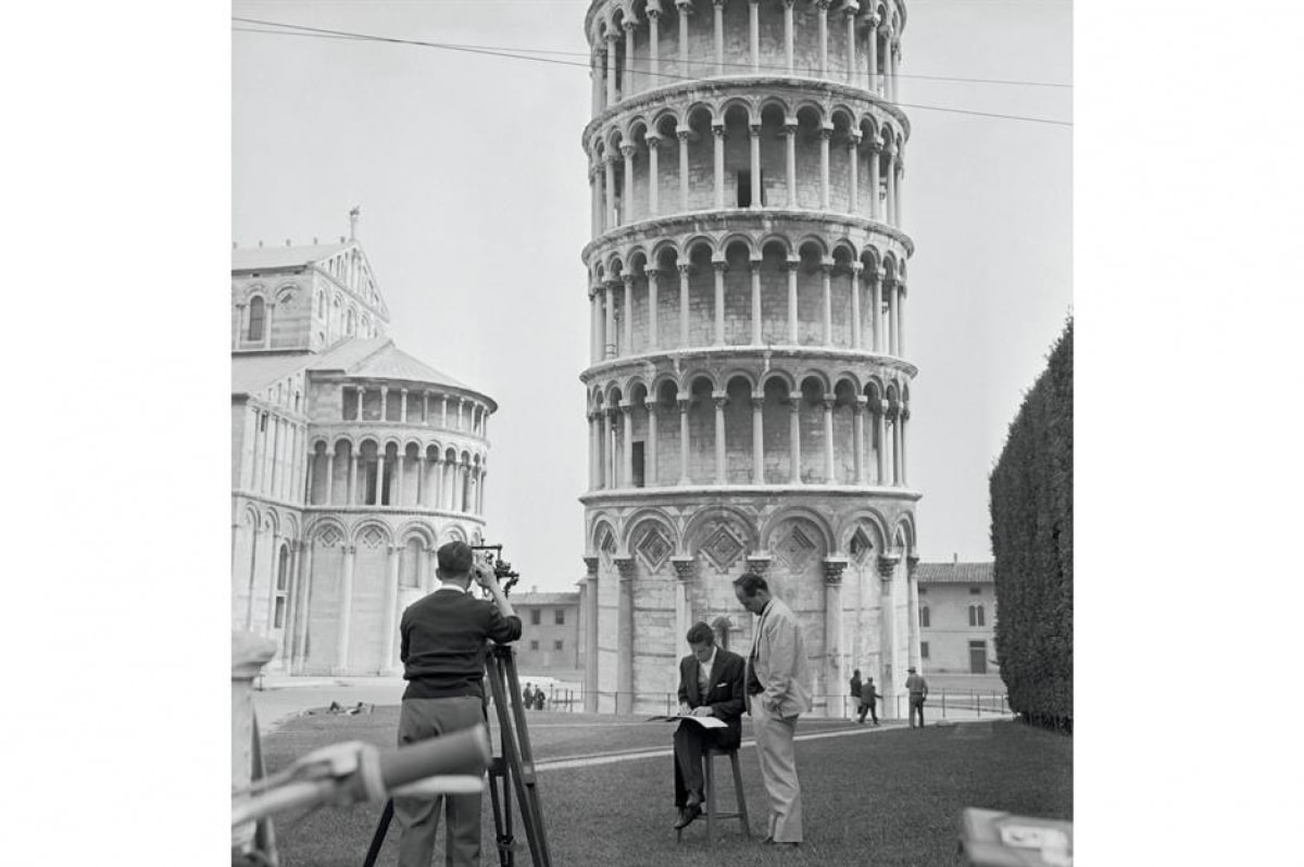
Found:
M 795 237 L 734 223 L 591 245 L 589 361 L 720 347 L 905 355 L 910 245 L 858 245 L 811 219 L 785 220 Z

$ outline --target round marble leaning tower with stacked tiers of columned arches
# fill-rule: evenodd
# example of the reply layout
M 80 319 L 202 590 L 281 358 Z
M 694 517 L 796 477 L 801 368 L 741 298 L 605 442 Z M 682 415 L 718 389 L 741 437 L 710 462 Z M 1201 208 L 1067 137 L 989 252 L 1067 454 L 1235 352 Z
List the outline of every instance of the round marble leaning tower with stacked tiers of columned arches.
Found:
M 801 617 L 815 713 L 919 661 L 904 0 L 595 0 L 585 692 L 655 712 L 732 580 Z M 904 711 L 904 708 L 902 708 Z

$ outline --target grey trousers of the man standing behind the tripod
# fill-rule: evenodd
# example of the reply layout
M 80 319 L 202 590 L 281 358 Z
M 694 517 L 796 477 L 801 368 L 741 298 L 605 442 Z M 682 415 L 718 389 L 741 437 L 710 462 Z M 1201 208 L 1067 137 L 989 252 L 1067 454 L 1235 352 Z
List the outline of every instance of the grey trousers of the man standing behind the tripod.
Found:
M 399 712 L 399 746 L 438 738 L 484 722 L 484 701 L 476 696 L 455 699 L 404 699 Z M 399 823 L 399 867 L 430 867 L 434 832 L 441 807 L 447 816 L 446 867 L 480 864 L 480 794 L 395 798 Z

